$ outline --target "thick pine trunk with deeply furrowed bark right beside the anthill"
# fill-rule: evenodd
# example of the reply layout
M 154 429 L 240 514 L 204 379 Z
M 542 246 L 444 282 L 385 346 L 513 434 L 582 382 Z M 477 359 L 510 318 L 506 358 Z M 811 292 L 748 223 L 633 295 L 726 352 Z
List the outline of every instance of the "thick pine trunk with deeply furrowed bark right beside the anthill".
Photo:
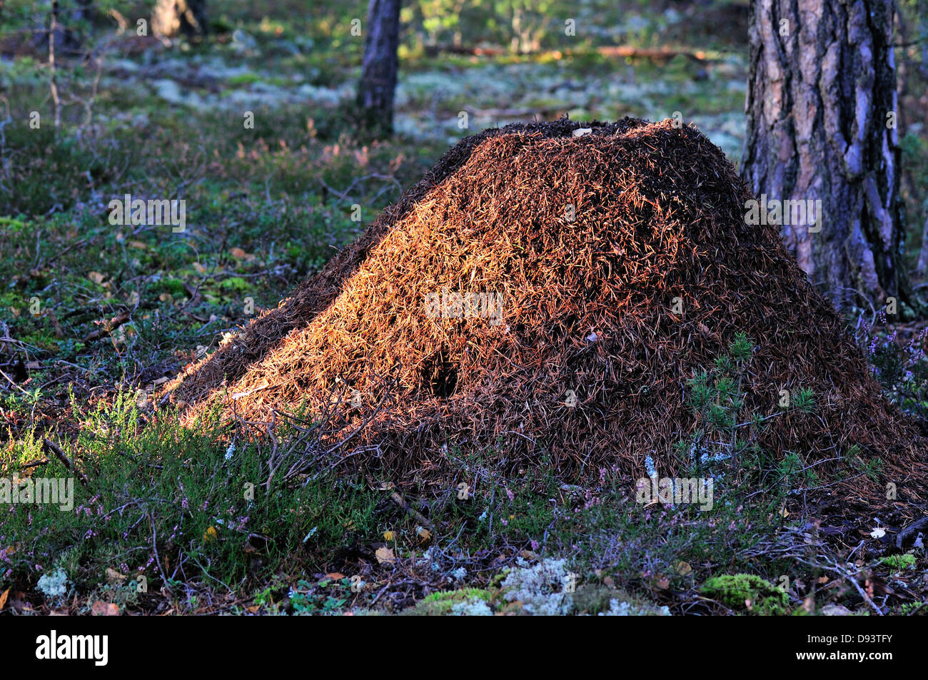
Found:
M 895 297 L 920 308 L 902 258 L 894 9 L 894 0 L 751 6 L 741 174 L 758 197 L 821 201 L 812 231 L 780 229 L 838 307 Z

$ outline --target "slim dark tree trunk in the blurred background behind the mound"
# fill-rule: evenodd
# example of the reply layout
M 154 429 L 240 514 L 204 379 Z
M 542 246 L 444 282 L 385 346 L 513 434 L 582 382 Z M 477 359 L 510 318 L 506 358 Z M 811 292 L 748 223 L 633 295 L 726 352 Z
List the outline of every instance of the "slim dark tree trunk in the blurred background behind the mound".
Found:
M 399 71 L 400 0 L 370 0 L 364 63 L 357 86 L 358 122 L 374 135 L 393 134 L 393 92 Z

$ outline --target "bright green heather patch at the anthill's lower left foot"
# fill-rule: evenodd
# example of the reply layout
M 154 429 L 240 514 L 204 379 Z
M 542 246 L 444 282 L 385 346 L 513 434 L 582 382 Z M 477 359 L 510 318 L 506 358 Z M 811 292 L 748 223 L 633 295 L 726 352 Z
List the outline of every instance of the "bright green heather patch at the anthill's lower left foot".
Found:
M 3 508 L 0 545 L 11 570 L 3 580 L 34 583 L 62 568 L 86 590 L 110 569 L 156 589 L 209 580 L 247 591 L 285 566 L 318 570 L 356 538 L 377 535 L 379 497 L 364 483 L 322 476 L 265 488 L 266 448 L 226 443 L 221 431 L 210 422 L 182 428 L 165 412 L 143 427 L 125 392 L 98 405 L 76 441 L 62 443 L 88 479 L 74 485 L 73 507 Z M 9 476 L 72 477 L 54 458 L 19 468 L 45 453 L 28 434 L 0 463 Z

